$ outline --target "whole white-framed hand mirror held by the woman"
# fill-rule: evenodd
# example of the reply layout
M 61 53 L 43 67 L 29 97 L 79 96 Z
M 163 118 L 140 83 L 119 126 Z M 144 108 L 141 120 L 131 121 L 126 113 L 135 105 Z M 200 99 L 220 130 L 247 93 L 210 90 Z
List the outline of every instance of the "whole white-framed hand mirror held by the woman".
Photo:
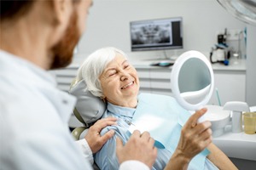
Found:
M 212 65 L 204 54 L 188 51 L 172 66 L 171 88 L 177 102 L 188 111 L 200 110 L 212 97 Z

